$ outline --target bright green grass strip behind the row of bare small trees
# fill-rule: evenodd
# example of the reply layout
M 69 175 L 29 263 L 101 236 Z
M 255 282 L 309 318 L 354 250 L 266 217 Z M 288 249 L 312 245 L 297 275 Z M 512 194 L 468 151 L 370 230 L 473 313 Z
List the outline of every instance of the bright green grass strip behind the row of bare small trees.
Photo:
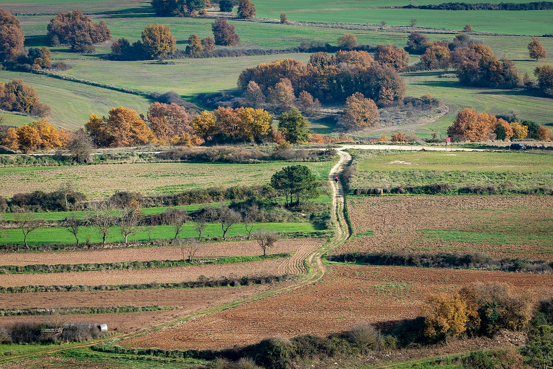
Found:
M 256 223 L 253 227 L 253 231 L 258 228 L 267 228 L 275 232 L 314 232 L 316 231 L 310 223 Z M 5 236 L 0 237 L 0 243 L 8 243 L 11 245 L 18 244 L 23 245 L 23 232 L 21 230 L 12 229 L 8 230 L 7 238 Z M 90 242 L 101 243 L 102 237 L 98 233 L 95 227 L 81 227 L 79 228 L 79 241 L 85 242 L 87 235 L 91 235 Z M 205 232 L 202 233 L 202 237 L 222 237 L 223 231 L 220 224 L 208 224 Z M 227 237 L 233 237 L 236 235 L 248 235 L 248 232 L 244 228 L 243 224 L 236 224 L 229 228 Z M 152 240 L 159 239 L 173 239 L 175 237 L 175 231 L 173 226 L 156 226 L 152 232 Z M 179 238 L 198 237 L 198 233 L 194 228 L 194 224 L 185 224 L 179 233 Z M 129 237 L 129 241 L 148 241 L 148 231 L 142 230 L 137 232 L 132 238 Z M 112 227 L 109 229 L 107 242 L 123 242 L 124 238 L 119 232 L 119 227 Z M 75 243 L 75 237 L 64 228 L 39 228 L 27 236 L 27 243 L 29 245 L 48 245 L 50 243 Z

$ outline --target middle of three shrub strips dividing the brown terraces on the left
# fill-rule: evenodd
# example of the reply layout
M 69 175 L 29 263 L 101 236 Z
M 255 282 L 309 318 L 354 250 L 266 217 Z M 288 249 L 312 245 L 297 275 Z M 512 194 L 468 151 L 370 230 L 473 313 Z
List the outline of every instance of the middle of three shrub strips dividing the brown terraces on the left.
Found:
M 119 291 L 135 289 L 171 289 L 171 288 L 201 288 L 201 287 L 239 287 L 241 285 L 268 284 L 288 280 L 290 276 L 244 276 L 241 278 L 206 279 L 200 276 L 196 282 L 175 283 L 138 283 L 121 285 L 27 285 L 17 287 L 1 287 L 0 293 L 28 292 L 86 292 L 86 291 Z

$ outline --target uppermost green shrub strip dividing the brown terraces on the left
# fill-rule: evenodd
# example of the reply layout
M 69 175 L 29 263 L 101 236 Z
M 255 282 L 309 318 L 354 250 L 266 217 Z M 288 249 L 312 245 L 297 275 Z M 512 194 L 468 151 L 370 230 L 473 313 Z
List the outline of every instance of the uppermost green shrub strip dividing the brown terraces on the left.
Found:
M 25 266 L 6 265 L 0 267 L 0 274 L 24 274 L 24 273 L 64 273 L 64 272 L 89 272 L 89 271 L 118 271 L 124 269 L 150 269 L 188 267 L 202 264 L 226 264 L 248 261 L 268 260 L 289 257 L 290 254 L 273 254 L 268 256 L 229 256 L 220 258 L 194 259 L 191 263 L 186 260 L 153 260 L 132 261 L 117 263 L 83 263 L 83 264 L 33 264 Z

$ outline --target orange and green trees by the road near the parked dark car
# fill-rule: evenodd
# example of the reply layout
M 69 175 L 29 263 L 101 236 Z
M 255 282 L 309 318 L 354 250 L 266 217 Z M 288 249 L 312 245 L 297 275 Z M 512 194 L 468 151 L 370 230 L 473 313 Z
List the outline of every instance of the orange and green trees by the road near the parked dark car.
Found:
M 524 124 L 523 124 L 524 123 Z M 454 141 L 487 141 L 494 139 L 518 140 L 535 138 L 539 141 L 551 141 L 551 130 L 530 122 L 507 122 L 488 113 L 478 113 L 464 108 L 457 113 L 453 124 L 447 128 L 447 136 Z M 535 126 L 535 127 L 534 127 Z M 530 134 L 529 134 L 530 133 Z M 530 136 L 530 137 L 529 137 Z

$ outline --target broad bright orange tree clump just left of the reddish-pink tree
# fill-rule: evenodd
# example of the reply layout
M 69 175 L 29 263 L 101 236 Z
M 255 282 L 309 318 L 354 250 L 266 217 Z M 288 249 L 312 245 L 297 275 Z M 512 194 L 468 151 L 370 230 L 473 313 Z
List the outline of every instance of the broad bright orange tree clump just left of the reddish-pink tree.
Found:
M 107 118 L 91 114 L 85 131 L 98 147 L 129 147 L 154 139 L 152 130 L 137 112 L 122 106 L 112 108 Z

